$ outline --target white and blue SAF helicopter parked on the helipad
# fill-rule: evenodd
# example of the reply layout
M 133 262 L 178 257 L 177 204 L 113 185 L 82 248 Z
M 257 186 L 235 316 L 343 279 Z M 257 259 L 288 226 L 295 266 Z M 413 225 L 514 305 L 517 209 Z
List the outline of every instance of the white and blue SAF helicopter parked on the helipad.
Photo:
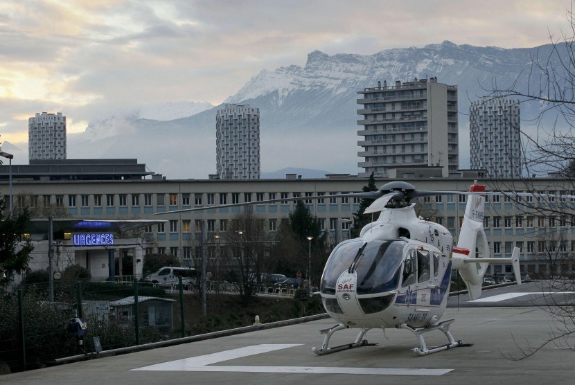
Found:
M 417 217 L 414 199 L 431 195 L 468 195 L 457 246 L 453 236 L 441 224 Z M 364 214 L 380 213 L 366 224 L 360 236 L 337 244 L 324 267 L 319 292 L 322 304 L 337 325 L 326 330 L 317 355 L 368 345 L 368 330 L 398 328 L 412 332 L 418 339 L 418 355 L 463 346 L 455 341 L 449 328 L 454 319 L 441 321 L 448 302 L 452 269 L 457 269 L 472 300 L 481 296 L 483 276 L 489 263 L 513 265 L 517 284 L 521 283 L 519 253 L 515 247 L 511 258 L 490 258 L 484 231 L 484 208 L 487 195 L 534 195 L 530 193 L 487 192 L 475 181 L 469 191 L 416 190 L 405 181 L 390 181 L 376 191 L 346 193 L 333 197 L 375 199 Z M 320 199 L 324 196 L 306 197 Z M 299 200 L 301 197 L 270 199 L 211 206 L 211 208 L 245 206 Z M 170 213 L 200 211 L 187 208 Z M 161 213 L 158 213 L 158 215 Z M 344 329 L 359 329 L 355 341 L 330 347 L 333 334 Z M 439 330 L 448 342 L 428 348 L 423 335 Z

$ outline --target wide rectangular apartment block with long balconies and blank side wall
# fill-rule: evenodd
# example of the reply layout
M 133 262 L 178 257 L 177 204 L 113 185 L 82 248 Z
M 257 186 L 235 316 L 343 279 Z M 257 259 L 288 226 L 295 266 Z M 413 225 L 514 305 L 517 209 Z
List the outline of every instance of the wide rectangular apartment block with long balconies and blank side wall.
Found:
M 371 172 L 387 177 L 389 168 L 402 166 L 441 167 L 442 177 L 459 168 L 457 127 L 457 86 L 437 82 L 437 78 L 413 82 L 378 82 L 378 87 L 358 91 L 362 95 L 357 120 L 364 136 L 357 145 L 364 161 L 362 177 Z

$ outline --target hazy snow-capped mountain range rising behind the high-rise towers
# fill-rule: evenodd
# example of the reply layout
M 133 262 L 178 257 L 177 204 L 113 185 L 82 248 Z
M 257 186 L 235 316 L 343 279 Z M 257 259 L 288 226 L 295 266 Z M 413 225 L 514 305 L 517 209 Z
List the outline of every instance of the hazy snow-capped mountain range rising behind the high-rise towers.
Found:
M 361 118 L 357 116 L 361 107 L 357 105 L 357 91 L 375 87 L 378 81 L 392 84 L 437 77 L 438 82 L 457 85 L 459 90 L 460 168 L 466 168 L 470 101 L 488 94 L 486 90 L 494 82 L 506 87 L 517 80 L 516 84 L 527 88 L 529 80 L 522 71 L 529 67 L 533 55 L 545 57 L 550 49 L 443 42 L 374 55 L 314 51 L 305 66 L 260 71 L 224 103 L 247 103 L 260 109 L 263 172 L 295 167 L 356 174 L 361 171 L 357 162 L 362 161 L 357 157 L 361 150 L 357 147 L 357 120 Z M 91 135 L 69 137 L 68 157 L 134 157 L 168 178 L 205 179 L 215 173 L 215 111 L 219 107 L 202 103 L 188 107 L 197 107 L 197 112 L 172 103 L 165 109 L 142 107 L 128 118 L 93 125 Z M 522 105 L 522 118 L 537 110 L 538 106 Z M 116 125 L 123 127 L 114 129 Z M 103 132 L 108 134 L 101 135 Z M 105 136 L 107 139 L 100 139 Z

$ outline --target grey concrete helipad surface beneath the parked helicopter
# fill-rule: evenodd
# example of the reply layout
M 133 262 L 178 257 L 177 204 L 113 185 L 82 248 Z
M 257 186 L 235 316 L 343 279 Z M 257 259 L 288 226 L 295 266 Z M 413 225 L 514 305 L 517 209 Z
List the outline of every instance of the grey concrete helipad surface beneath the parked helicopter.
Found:
M 526 292 L 538 292 L 526 288 Z M 515 292 L 507 289 L 508 292 Z M 493 296 L 501 295 L 494 292 Z M 486 298 L 492 295 L 487 295 Z M 527 298 L 527 294 L 520 296 Z M 461 300 L 460 300 L 461 301 Z M 506 300 L 511 301 L 511 300 Z M 549 343 L 532 357 L 525 352 L 541 346 L 556 332 L 545 307 L 448 307 L 443 320 L 463 346 L 419 357 L 418 343 L 405 330 L 370 330 L 375 345 L 318 356 L 312 352 L 334 324 L 321 319 L 229 335 L 193 343 L 92 359 L 0 376 L 6 384 L 569 384 L 575 378 L 575 352 Z M 517 298 L 513 301 L 518 301 Z M 463 302 L 463 301 L 461 301 Z M 349 343 L 355 330 L 342 330 L 333 344 Z M 432 332 L 428 346 L 444 343 Z M 520 360 L 517 360 L 520 359 Z

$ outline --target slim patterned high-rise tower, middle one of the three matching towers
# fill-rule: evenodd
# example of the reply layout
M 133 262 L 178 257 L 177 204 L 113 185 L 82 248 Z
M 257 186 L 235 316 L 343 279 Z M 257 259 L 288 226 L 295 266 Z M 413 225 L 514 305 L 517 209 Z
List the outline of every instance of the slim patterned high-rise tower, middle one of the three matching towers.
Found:
M 226 105 L 215 115 L 216 166 L 220 179 L 260 178 L 260 109 Z

